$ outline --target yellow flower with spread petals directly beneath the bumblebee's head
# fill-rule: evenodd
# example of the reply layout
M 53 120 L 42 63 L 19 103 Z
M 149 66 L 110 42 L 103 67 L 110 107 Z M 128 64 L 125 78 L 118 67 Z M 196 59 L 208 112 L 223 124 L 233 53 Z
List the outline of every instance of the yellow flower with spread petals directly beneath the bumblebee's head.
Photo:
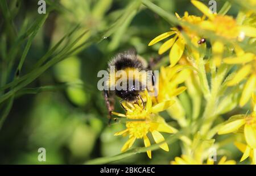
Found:
M 144 91 L 144 94 L 147 99 L 146 108 L 143 108 L 142 105 L 127 102 L 127 105 L 123 104 L 126 114 L 113 112 L 114 115 L 133 120 L 126 122 L 125 130 L 115 133 L 115 136 L 129 135 L 129 140 L 121 149 L 122 152 L 129 149 L 136 139 L 143 139 L 144 145 L 146 147 L 150 146 L 150 140 L 147 137 L 148 132 L 151 132 L 156 143 L 162 143 L 164 141 L 164 137 L 159 132 L 174 133 L 176 131 L 176 129 L 170 127 L 163 118 L 157 115 L 158 112 L 166 110 L 175 102 L 173 100 L 167 100 L 166 102 L 152 106 L 151 98 L 146 90 Z M 167 152 L 169 151 L 167 143 L 162 143 L 159 146 L 163 150 L 166 150 Z M 151 158 L 151 150 L 147 150 L 147 156 Z

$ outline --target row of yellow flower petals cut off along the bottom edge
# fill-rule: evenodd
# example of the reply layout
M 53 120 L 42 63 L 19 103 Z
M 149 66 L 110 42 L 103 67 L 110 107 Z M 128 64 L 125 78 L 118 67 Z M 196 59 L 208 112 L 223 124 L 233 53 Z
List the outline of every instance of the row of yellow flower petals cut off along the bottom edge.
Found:
M 172 165 L 214 165 L 214 161 L 210 158 L 208 158 L 207 163 L 203 163 L 185 154 L 181 155 L 181 157 L 175 157 L 174 160 L 175 161 L 171 161 Z M 218 162 L 218 165 L 235 165 L 235 164 L 236 164 L 236 161 L 234 160 L 227 161 L 225 156 L 223 156 Z

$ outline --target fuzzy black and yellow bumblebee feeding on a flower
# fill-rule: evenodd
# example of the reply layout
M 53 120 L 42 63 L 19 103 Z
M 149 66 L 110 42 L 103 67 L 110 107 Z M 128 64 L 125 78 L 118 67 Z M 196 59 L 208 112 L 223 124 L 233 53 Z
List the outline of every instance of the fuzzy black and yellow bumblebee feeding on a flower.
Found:
M 109 89 L 104 90 L 104 97 L 110 120 L 114 110 L 115 96 L 121 98 L 119 100 L 121 106 L 122 102 L 125 101 L 131 103 L 142 102 L 144 107 L 144 90 L 148 89 L 149 86 L 152 89 L 152 86 L 155 84 L 154 74 L 147 72 L 150 67 L 146 60 L 138 56 L 135 50 L 131 49 L 118 53 L 118 55 L 110 60 L 108 66 L 109 80 L 107 87 Z M 123 76 L 124 74 L 125 76 Z M 117 75 L 119 79 L 115 78 Z M 118 82 L 120 82 L 119 85 L 122 89 L 117 87 Z

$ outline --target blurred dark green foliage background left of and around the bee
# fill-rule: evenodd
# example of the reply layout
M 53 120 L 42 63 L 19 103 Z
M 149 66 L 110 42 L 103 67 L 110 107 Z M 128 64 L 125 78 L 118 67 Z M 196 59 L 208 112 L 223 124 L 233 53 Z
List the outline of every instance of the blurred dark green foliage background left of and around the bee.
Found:
M 13 15 L 11 23 L 14 25 L 14 33 L 26 31 L 40 17 L 36 0 L 6 2 Z M 188 11 L 189 14 L 201 15 L 190 1 L 152 2 L 172 14 L 177 12 L 182 16 L 184 11 Z M 224 2 L 218 1 L 217 11 Z M 92 42 L 51 66 L 26 86 L 48 86 L 46 90 L 49 91 L 39 90 L 32 94 L 18 91 L 15 94 L 10 113 L 0 129 L 0 164 L 82 164 L 93 158 L 120 153 L 126 138 L 113 135 L 124 129 L 125 125 L 118 123 L 108 126 L 104 98 L 102 92 L 97 90 L 97 73 L 107 68 L 108 61 L 116 53 L 131 47 L 137 49 L 139 55 L 146 60 L 157 57 L 160 44 L 152 47 L 147 47 L 147 44 L 171 27 L 142 5 L 131 9 L 132 3 L 134 4 L 128 0 L 47 1 L 47 11 L 51 8 L 52 11 L 32 41 L 20 76 L 29 73 L 49 48 L 77 24 L 80 27 L 70 40 L 75 40 L 81 32 L 89 29 L 76 44 L 86 40 Z M 237 11 L 237 7 L 233 6 L 229 15 L 235 16 Z M 9 51 L 12 45 L 11 31 L 3 13 L 2 6 L 0 74 L 5 73 L 5 60 L 8 59 L 8 55 L 4 55 L 2 51 Z M 122 18 L 125 14 L 125 18 Z M 120 17 L 121 20 L 118 20 Z M 111 28 L 113 24 L 115 27 Z M 109 36 L 102 36 L 108 30 Z M 63 45 L 68 45 L 71 41 L 66 41 Z M 18 64 L 25 46 L 26 42 L 20 45 L 15 64 Z M 6 82 L 11 82 L 14 74 L 15 66 Z M 2 103 L 1 111 L 5 109 L 5 103 L 6 101 Z M 118 104 L 115 111 L 122 112 Z M 166 121 L 170 122 L 172 119 Z M 143 146 L 143 142 L 137 141 L 136 145 Z M 46 148 L 46 162 L 38 161 L 38 149 L 41 147 Z M 175 156 L 180 156 L 179 142 L 172 144 L 170 150 L 154 151 L 151 160 L 146 153 L 141 153 L 114 163 L 169 164 Z M 237 152 L 237 149 L 231 150 Z

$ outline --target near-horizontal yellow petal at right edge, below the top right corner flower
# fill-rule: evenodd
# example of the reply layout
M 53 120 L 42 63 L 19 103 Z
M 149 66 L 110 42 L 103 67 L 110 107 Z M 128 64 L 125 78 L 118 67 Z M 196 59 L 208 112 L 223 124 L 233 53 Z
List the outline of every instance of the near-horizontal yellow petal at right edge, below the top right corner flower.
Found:
M 253 53 L 245 53 L 240 57 L 227 57 L 223 61 L 226 64 L 246 64 L 247 62 L 253 61 L 255 55 Z

